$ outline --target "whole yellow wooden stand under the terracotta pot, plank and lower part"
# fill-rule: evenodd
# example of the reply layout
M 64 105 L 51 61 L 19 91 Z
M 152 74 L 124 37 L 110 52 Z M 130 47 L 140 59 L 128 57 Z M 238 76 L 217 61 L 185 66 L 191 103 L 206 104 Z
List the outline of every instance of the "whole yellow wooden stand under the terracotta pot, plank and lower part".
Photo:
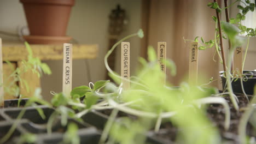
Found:
M 24 68 L 21 63 L 22 60 L 27 59 L 27 49 L 24 43 L 15 42 L 15 41 L 5 41 L 2 43 L 2 55 L 3 61 L 10 61 L 11 65 L 8 63 L 3 64 L 3 73 L 4 83 L 9 83 L 13 81 L 11 79 L 6 79 L 11 75 L 15 68 Z M 41 60 L 61 60 L 63 59 L 63 44 L 30 44 L 31 49 L 33 51 L 33 57 L 39 57 Z M 93 59 L 98 55 L 98 45 L 97 44 L 73 44 L 73 59 Z M 13 66 L 13 67 L 10 67 Z M 20 75 L 23 80 L 26 80 L 28 87 L 30 87 L 30 91 L 27 91 L 26 87 L 21 85 L 18 82 L 18 86 L 20 87 L 20 94 L 24 97 L 32 97 L 34 91 L 37 87 L 40 87 L 40 79 L 39 77 L 33 73 L 32 70 L 26 71 L 26 73 Z M 16 83 L 11 87 L 15 87 Z M 5 93 L 4 99 L 14 99 L 13 93 Z

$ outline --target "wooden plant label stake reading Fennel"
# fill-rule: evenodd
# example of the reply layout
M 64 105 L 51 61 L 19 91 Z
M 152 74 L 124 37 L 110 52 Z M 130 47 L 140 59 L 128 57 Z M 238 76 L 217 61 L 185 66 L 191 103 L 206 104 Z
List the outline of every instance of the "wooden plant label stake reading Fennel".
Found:
M 189 47 L 189 83 L 197 85 L 198 43 L 192 42 Z

